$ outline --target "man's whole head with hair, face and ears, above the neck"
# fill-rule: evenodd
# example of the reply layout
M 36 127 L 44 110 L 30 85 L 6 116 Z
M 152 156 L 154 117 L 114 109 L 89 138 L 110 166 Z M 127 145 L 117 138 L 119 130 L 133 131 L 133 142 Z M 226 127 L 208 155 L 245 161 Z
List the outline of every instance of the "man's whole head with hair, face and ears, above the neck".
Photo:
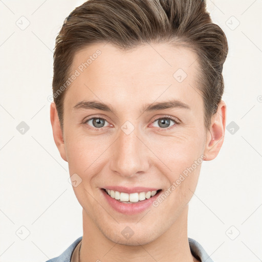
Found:
M 81 181 L 73 188 L 86 217 L 106 238 L 146 244 L 185 214 L 203 160 L 223 144 L 227 52 L 201 0 L 90 0 L 65 19 L 54 52 L 53 134 Z M 104 202 L 102 188 L 112 186 L 169 193 L 149 214 L 127 215 Z M 126 226 L 135 232 L 128 241 Z

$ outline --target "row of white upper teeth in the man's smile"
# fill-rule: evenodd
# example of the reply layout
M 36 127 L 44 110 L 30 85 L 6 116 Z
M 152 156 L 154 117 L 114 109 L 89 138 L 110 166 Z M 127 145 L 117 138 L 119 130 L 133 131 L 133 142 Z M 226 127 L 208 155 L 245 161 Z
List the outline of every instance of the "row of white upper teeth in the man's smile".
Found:
M 132 203 L 132 202 L 136 203 L 138 201 L 143 201 L 145 199 L 154 197 L 154 195 L 157 193 L 157 190 L 140 192 L 140 193 L 131 193 L 131 194 L 114 191 L 110 189 L 105 189 L 105 191 L 107 192 L 108 195 L 110 195 L 111 198 L 127 203 Z

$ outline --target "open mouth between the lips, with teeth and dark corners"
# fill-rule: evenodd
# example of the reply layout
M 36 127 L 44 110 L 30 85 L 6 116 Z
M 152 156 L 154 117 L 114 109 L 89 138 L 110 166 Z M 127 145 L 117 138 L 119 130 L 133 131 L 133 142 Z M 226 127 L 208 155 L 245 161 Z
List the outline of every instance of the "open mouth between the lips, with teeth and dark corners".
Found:
M 123 204 L 136 204 L 145 202 L 146 200 L 151 199 L 152 197 L 157 197 L 162 189 L 152 190 L 152 191 L 142 191 L 134 193 L 120 192 L 112 189 L 101 188 L 107 195 L 112 199 L 123 203 Z M 155 198 L 154 198 L 155 199 Z

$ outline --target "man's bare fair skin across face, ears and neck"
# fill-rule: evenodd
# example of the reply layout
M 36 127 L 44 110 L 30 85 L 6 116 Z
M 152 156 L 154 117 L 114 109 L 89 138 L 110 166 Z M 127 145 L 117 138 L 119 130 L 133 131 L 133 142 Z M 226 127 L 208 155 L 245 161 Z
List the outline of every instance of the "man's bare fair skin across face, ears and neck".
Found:
M 201 164 L 158 207 L 136 215 L 115 211 L 100 188 L 145 186 L 166 191 L 202 154 L 206 161 L 217 156 L 224 141 L 226 104 L 220 102 L 205 132 L 203 97 L 191 87 L 197 86 L 199 63 L 197 55 L 186 48 L 159 43 L 123 52 L 109 43 L 97 43 L 75 54 L 72 72 L 97 49 L 101 55 L 67 89 L 63 131 L 51 103 L 55 143 L 69 164 L 70 176 L 77 173 L 82 179 L 73 187 L 83 207 L 80 260 L 197 261 L 189 249 L 187 215 Z M 181 83 L 173 77 L 179 68 L 187 73 Z M 183 101 L 190 110 L 143 113 L 144 104 L 170 98 Z M 73 109 L 91 99 L 110 104 L 116 114 Z M 164 130 L 158 121 L 164 116 L 181 122 L 170 120 L 171 129 Z M 106 118 L 98 132 L 93 119 L 84 123 L 92 117 Z M 135 127 L 129 135 L 121 129 L 126 121 Z M 126 226 L 134 231 L 129 239 L 121 234 Z

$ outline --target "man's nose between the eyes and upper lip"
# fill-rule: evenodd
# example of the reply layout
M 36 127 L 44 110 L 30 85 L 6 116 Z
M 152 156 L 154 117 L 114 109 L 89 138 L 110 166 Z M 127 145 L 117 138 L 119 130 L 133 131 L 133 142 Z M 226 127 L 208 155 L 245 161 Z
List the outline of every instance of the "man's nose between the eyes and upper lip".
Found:
M 118 139 L 111 147 L 111 170 L 122 177 L 134 177 L 149 168 L 149 149 L 137 134 L 135 128 L 130 134 L 121 129 Z

